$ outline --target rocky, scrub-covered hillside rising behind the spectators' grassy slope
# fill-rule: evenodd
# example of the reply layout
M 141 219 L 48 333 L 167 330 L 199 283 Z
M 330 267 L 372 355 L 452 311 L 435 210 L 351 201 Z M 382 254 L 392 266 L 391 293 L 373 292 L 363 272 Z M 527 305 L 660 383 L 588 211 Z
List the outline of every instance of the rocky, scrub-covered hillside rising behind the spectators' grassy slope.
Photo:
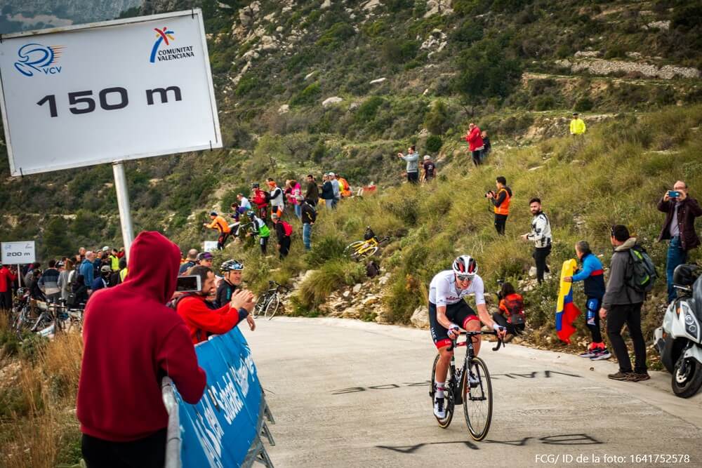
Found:
M 529 145 L 567 133 L 572 109 L 592 126 L 702 96 L 700 1 L 150 0 L 123 16 L 191 6 L 225 148 L 126 165 L 137 229 L 183 248 L 211 239 L 209 210 L 267 176 L 388 187 L 402 180 L 397 151 L 416 143 L 442 167 L 469 121 L 496 147 Z M 48 258 L 119 236 L 109 166 L 0 178 L 0 240 L 37 239 Z

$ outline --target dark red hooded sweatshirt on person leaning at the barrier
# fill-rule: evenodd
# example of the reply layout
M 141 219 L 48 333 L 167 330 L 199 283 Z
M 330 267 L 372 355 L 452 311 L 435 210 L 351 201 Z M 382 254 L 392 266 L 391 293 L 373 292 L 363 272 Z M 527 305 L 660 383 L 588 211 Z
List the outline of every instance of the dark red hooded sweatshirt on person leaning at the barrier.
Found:
M 168 425 L 164 375 L 187 403 L 197 403 L 206 385 L 183 319 L 165 305 L 176 290 L 178 246 L 158 232 L 142 232 L 129 253 L 126 281 L 88 301 L 78 384 L 81 432 L 115 442 L 143 439 Z

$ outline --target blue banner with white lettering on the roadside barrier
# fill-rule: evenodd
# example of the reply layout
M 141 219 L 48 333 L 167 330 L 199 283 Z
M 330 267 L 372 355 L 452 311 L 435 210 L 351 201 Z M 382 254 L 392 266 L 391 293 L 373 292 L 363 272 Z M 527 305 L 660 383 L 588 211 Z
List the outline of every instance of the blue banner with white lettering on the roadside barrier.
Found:
M 251 349 L 238 328 L 195 347 L 207 374 L 207 387 L 197 405 L 185 403 L 175 389 L 182 439 L 183 467 L 239 467 L 250 464 L 260 446 L 263 392 Z M 254 450 L 256 451 L 256 450 Z

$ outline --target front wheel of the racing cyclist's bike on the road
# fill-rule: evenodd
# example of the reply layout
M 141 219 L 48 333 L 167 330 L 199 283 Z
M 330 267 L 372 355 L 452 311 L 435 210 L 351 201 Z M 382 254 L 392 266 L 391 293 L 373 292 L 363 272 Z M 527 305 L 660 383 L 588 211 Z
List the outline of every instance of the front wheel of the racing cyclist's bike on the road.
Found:
M 470 384 L 468 375 L 477 383 Z M 492 383 L 485 362 L 474 357 L 470 360 L 468 372 L 463 373 L 463 415 L 468 432 L 475 441 L 485 439 L 492 420 Z

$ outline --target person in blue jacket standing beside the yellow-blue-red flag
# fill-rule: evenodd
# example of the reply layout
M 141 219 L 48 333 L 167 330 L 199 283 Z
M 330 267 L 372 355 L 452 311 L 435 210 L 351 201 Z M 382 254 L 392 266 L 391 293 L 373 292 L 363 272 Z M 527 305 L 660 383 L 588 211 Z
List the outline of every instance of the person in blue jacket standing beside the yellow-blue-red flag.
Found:
M 597 258 L 597 255 L 590 251 L 590 244 L 587 241 L 578 241 L 575 244 L 575 253 L 578 259 L 582 262 L 581 269 L 573 276 L 567 276 L 563 281 L 577 283 L 583 281 L 585 296 L 588 298 L 585 302 L 585 325 L 588 326 L 592 335 L 592 342 L 588 346 L 587 351 L 580 354 L 583 358 L 589 358 L 592 361 L 611 358 L 611 353 L 607 350 L 602 340 L 600 332 L 600 306 L 602 305 L 602 297 L 604 297 L 604 270 L 602 262 Z

